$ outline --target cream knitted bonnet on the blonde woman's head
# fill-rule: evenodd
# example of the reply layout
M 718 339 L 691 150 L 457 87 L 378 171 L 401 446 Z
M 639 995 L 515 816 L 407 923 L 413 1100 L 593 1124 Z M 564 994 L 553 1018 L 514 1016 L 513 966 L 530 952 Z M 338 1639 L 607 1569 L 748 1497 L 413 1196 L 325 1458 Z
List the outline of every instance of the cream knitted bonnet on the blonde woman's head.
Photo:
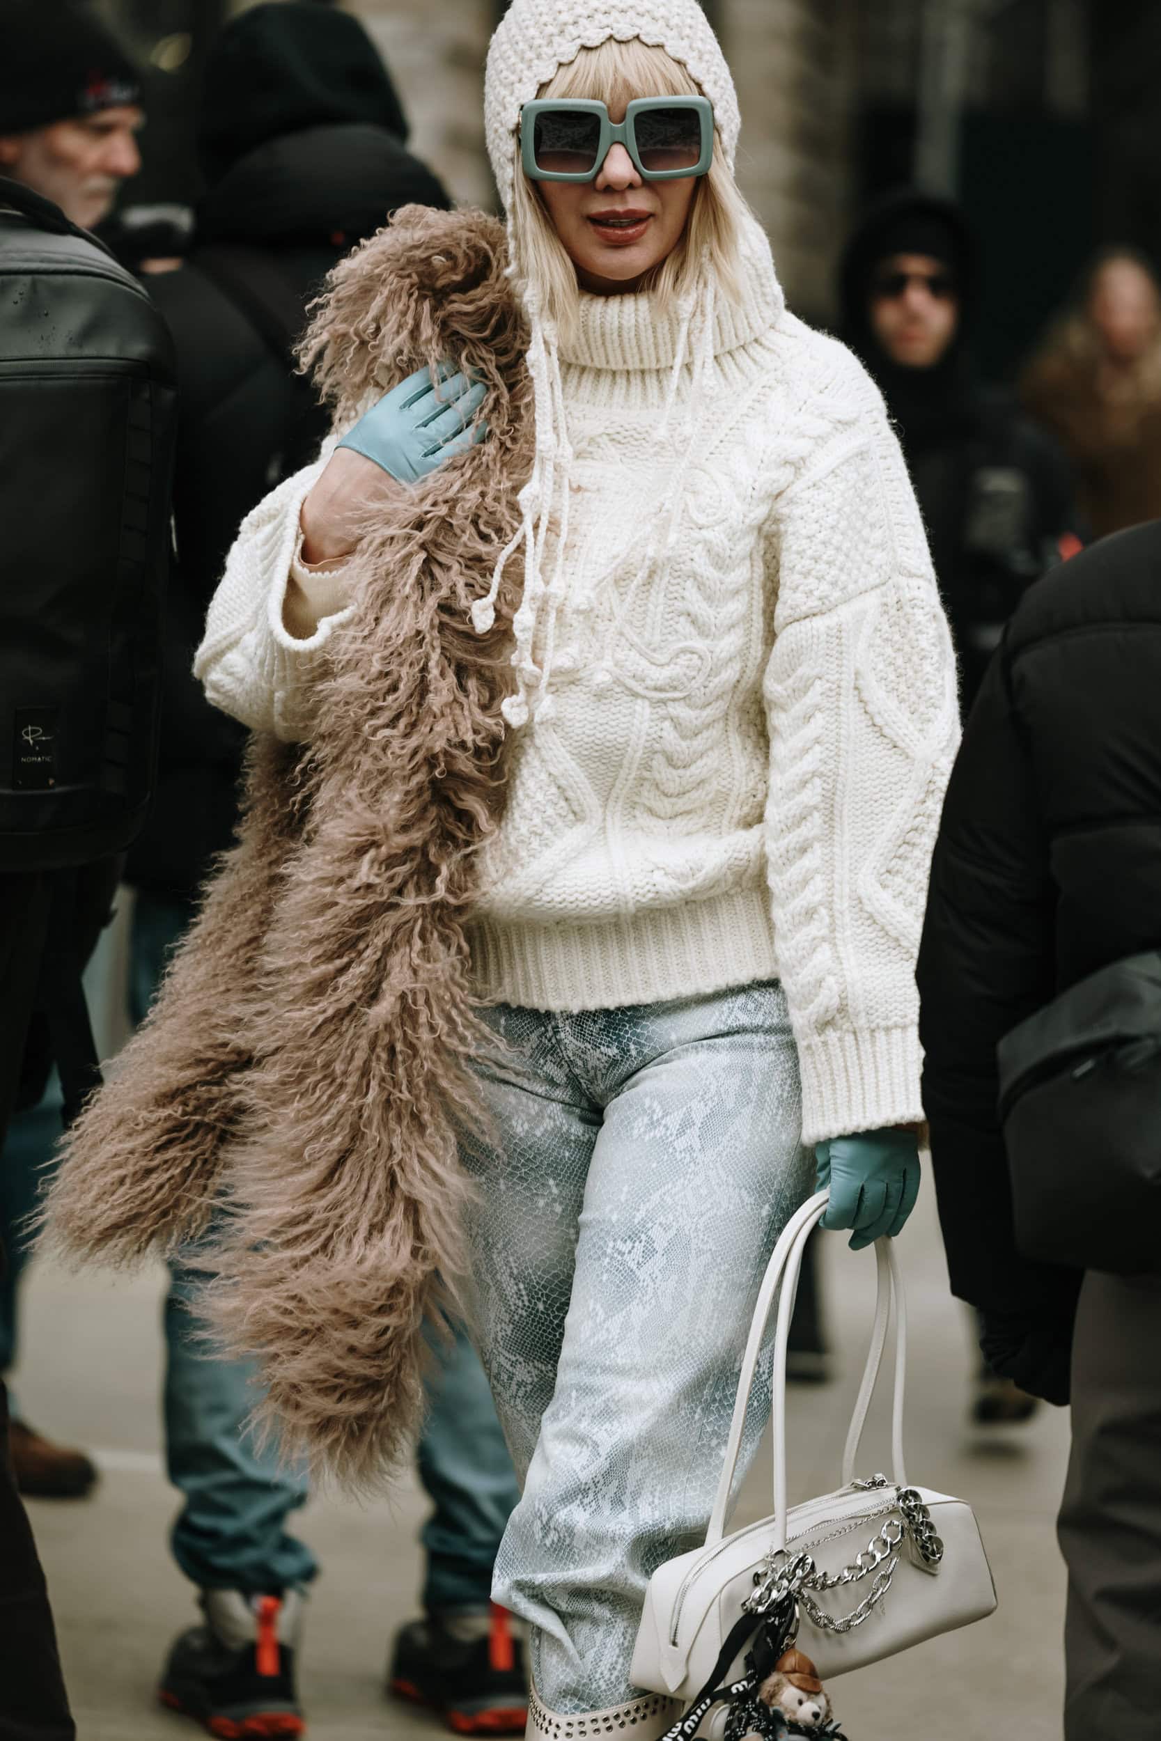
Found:
M 512 205 L 520 110 L 557 66 L 567 66 L 581 49 L 597 49 L 609 37 L 618 42 L 639 37 L 688 68 L 714 104 L 726 162 L 733 169 L 742 129 L 738 94 L 698 0 L 512 0 L 487 50 L 484 75 L 487 155 L 507 207 Z

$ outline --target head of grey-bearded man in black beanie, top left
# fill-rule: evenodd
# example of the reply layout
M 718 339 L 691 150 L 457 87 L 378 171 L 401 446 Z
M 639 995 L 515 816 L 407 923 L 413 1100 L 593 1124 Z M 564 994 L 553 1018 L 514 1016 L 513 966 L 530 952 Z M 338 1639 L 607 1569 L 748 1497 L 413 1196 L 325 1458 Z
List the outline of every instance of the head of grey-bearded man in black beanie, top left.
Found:
M 141 169 L 138 71 L 71 0 L 3 0 L 0 174 L 92 230 Z

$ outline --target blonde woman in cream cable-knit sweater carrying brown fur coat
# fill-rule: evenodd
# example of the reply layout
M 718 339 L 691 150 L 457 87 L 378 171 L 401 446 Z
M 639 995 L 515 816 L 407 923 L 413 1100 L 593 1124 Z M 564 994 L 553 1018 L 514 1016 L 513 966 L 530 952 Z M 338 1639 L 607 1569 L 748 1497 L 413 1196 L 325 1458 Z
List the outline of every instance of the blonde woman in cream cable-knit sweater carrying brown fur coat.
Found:
M 494 1595 L 529 1732 L 648 1741 L 642 1593 L 705 1530 L 776 1234 L 816 1173 L 856 1245 L 914 1203 L 956 681 L 882 402 L 785 308 L 696 0 L 513 0 L 486 120 L 507 256 L 411 211 L 334 275 L 336 435 L 198 653 L 266 745 L 251 823 L 57 1224 L 169 1238 L 228 1125 L 211 1311 L 357 1478 L 458 1288 L 524 1478 Z

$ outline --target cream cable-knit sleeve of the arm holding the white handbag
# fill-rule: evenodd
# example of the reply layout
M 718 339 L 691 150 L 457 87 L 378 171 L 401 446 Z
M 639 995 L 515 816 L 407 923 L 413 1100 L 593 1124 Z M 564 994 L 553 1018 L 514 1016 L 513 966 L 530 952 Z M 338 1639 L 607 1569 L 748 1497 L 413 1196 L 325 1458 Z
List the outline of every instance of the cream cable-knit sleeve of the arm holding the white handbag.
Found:
M 844 353 L 846 357 L 846 353 Z M 919 508 L 874 385 L 775 503 L 766 862 L 802 1069 L 802 1139 L 923 1118 L 916 954 L 959 736 Z

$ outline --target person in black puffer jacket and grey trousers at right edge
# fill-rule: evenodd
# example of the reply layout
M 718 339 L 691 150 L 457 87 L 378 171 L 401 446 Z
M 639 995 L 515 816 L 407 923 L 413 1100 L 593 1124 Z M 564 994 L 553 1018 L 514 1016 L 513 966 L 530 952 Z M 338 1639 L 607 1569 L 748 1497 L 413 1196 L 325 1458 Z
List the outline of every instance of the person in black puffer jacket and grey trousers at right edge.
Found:
M 982 1313 L 1001 1372 L 1072 1402 L 1067 1741 L 1152 1741 L 1159 1727 L 1161 1278 L 1156 1266 L 1081 1274 L 1022 1252 L 997 1043 L 1090 975 L 1156 949 L 1161 521 L 1091 545 L 1010 622 L 947 789 L 917 968 L 952 1290 Z M 1105 1215 L 1105 1231 L 1124 1224 L 1112 1186 Z

